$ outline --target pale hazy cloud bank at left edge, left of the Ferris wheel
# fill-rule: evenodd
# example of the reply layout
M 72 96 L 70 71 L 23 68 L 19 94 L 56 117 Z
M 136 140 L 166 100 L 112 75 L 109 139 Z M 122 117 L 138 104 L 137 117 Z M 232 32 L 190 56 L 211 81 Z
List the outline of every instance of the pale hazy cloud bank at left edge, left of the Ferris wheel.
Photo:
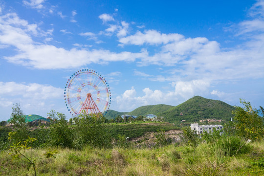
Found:
M 20 103 L 25 114 L 45 116 L 63 99 L 63 89 L 50 85 L 0 82 L 0 87 L 0 109 L 6 111 L 1 117 L 2 120 L 8 119 L 7 111 L 11 110 L 15 103 Z

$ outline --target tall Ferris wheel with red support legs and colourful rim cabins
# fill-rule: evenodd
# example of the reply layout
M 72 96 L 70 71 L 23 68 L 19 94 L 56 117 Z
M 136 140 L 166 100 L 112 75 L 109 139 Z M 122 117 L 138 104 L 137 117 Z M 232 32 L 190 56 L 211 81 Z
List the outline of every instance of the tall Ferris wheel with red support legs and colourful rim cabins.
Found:
M 111 104 L 111 92 L 105 78 L 91 69 L 73 73 L 64 90 L 66 107 L 73 116 L 79 114 L 107 113 Z

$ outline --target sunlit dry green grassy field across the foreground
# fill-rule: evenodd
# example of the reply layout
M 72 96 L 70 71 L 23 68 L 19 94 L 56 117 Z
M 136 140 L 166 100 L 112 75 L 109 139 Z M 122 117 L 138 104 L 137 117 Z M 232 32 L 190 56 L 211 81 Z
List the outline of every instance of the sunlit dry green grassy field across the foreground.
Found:
M 193 159 L 193 148 L 182 143 L 164 147 L 115 147 L 83 150 L 29 149 L 28 157 L 39 158 L 57 150 L 56 158 L 38 160 L 38 176 L 263 176 L 264 140 L 250 144 L 247 154 L 226 156 L 217 148 L 200 143 Z M 33 176 L 27 161 L 13 160 L 8 151 L 0 152 L 1 176 Z

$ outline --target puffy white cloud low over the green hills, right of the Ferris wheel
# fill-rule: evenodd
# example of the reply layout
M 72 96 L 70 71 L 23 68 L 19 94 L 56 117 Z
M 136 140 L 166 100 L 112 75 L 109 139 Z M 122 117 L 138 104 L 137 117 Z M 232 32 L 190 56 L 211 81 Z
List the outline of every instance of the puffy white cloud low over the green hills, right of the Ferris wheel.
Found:
M 132 87 L 126 90 L 123 94 L 116 97 L 118 110 L 134 110 L 140 106 L 156 105 L 156 104 L 169 104 L 178 105 L 179 103 L 188 100 L 194 95 L 204 94 L 210 86 L 206 80 L 193 80 L 193 81 L 179 81 L 174 83 L 174 91 L 162 92 L 161 90 L 152 90 L 144 88 L 143 96 L 136 96 L 136 90 Z

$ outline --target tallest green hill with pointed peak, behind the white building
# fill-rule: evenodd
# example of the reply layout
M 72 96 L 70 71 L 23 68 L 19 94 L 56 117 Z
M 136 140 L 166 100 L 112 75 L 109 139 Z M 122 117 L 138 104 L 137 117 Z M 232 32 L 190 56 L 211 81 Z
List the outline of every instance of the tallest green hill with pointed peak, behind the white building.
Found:
M 235 110 L 235 107 L 222 101 L 194 96 L 184 103 L 157 115 L 163 116 L 167 122 L 180 122 L 181 120 L 198 122 L 207 118 L 229 121 L 233 117 L 232 110 Z M 182 115 L 180 115 L 181 112 Z

